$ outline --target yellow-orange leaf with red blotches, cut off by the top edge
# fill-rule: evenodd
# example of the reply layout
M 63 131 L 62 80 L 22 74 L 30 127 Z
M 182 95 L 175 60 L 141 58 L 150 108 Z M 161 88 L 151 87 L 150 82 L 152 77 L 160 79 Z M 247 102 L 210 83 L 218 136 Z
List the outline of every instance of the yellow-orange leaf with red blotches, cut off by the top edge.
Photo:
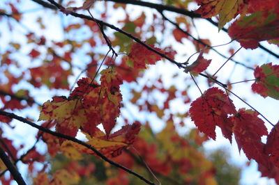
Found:
M 218 29 L 234 19 L 239 13 L 245 12 L 248 7 L 244 0 L 196 0 L 200 5 L 195 12 L 204 18 L 210 18 L 219 15 Z

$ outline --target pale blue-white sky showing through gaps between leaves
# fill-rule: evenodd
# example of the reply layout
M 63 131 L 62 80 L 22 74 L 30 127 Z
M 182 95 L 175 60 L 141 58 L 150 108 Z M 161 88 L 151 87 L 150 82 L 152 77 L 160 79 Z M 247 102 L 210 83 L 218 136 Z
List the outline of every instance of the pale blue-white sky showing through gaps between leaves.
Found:
M 3 2 L 0 1 L 0 8 L 3 7 Z M 140 11 L 138 11 L 138 6 L 129 6 L 128 11 L 130 12 L 130 16 L 131 19 L 133 19 L 134 17 L 137 17 L 138 15 L 140 15 Z M 101 3 L 96 2 L 96 5 L 94 6 L 92 13 L 94 14 L 94 16 L 96 15 L 96 17 L 98 17 L 100 15 L 100 13 L 103 12 L 103 7 L 101 6 Z M 23 25 L 26 26 L 17 26 L 17 31 L 27 31 L 27 30 L 32 30 L 34 32 L 36 32 L 36 30 L 39 30 L 38 28 L 36 28 L 35 26 L 32 25 L 33 19 L 34 17 L 37 17 L 38 15 L 41 15 L 42 12 L 40 10 L 42 10 L 42 8 L 40 8 L 40 6 L 36 5 L 36 3 L 33 3 L 32 1 L 24 1 L 24 3 L 22 4 L 22 10 L 27 11 L 28 13 L 25 15 L 24 17 L 24 22 Z M 147 14 L 150 11 L 148 8 L 146 8 L 147 10 Z M 118 19 L 121 19 L 121 15 L 119 13 L 116 13 L 116 15 L 118 15 Z M 167 13 L 166 14 L 167 17 L 172 17 L 171 13 Z M 45 13 L 44 16 L 47 16 L 47 20 L 49 22 L 51 22 L 52 24 L 47 24 L 47 30 L 45 30 L 44 32 L 39 32 L 38 34 L 40 35 L 47 35 L 47 37 L 52 38 L 54 40 L 63 40 L 63 38 L 66 35 L 63 35 L 63 33 L 61 33 L 61 29 L 57 28 L 57 26 L 55 25 L 61 25 L 61 24 L 66 24 L 66 22 L 69 19 L 68 17 L 63 17 L 63 15 L 59 15 L 61 16 L 61 19 L 57 19 L 57 15 L 52 15 L 52 12 L 49 11 L 47 13 Z M 63 20 L 63 21 L 61 21 Z M 110 19 L 110 23 L 115 24 L 117 21 L 116 16 L 112 17 L 112 19 Z M 13 22 L 11 22 L 13 24 Z M 5 24 L 3 22 L 0 22 L 0 27 L 3 28 L 3 26 L 1 26 L 1 24 Z M 197 31 L 199 33 L 199 37 L 200 38 L 211 38 L 211 43 L 212 45 L 222 45 L 224 43 L 227 43 L 230 41 L 230 38 L 227 36 L 226 33 L 224 33 L 223 31 L 218 32 L 218 29 L 215 26 L 212 26 L 209 22 L 206 22 L 204 20 L 200 20 L 197 21 L 195 20 L 195 25 L 197 26 Z M 110 33 L 110 31 L 108 31 L 108 33 Z M 158 33 L 159 34 L 159 33 Z M 164 35 L 162 35 L 163 37 Z M 197 36 L 197 35 L 195 35 Z M 162 38 L 163 39 L 163 38 Z M 15 32 L 10 33 L 10 31 L 8 30 L 8 28 L 3 28 L 1 31 L 1 35 L 0 35 L 0 42 L 1 43 L 6 43 L 8 42 L 8 40 L 15 40 L 17 42 L 22 42 L 24 43 L 25 40 L 24 38 L 18 38 Z M 168 42 L 173 43 L 172 40 L 174 40 L 174 38 L 168 38 Z M 183 40 L 182 44 L 178 44 L 178 45 L 173 45 L 172 47 L 174 47 L 176 49 L 176 51 L 178 51 L 180 54 L 179 56 L 176 58 L 176 61 L 186 61 L 187 57 L 185 57 L 184 55 L 187 54 L 187 56 L 189 56 L 190 54 L 193 54 L 194 48 L 188 47 L 188 40 Z M 0 51 L 3 51 L 1 49 L 4 48 L 3 46 L 4 44 L 2 44 L 2 48 L 0 47 Z M 266 43 L 263 43 L 263 45 L 265 45 L 266 47 L 270 48 L 273 51 L 277 51 L 278 49 L 276 47 L 273 47 L 272 45 L 268 45 Z M 223 47 L 217 47 L 216 49 L 218 49 L 218 51 L 227 54 L 227 51 L 230 49 L 230 47 L 234 46 L 234 48 L 239 48 L 239 44 L 237 42 L 233 42 L 231 45 L 225 45 Z M 24 51 L 29 51 L 30 48 L 24 48 L 22 50 L 22 52 Z M 24 66 L 29 66 L 29 65 L 33 65 L 36 66 L 38 65 L 39 61 L 27 61 L 24 60 L 24 57 L 22 57 L 20 54 L 18 54 L 17 56 L 18 58 L 22 58 L 22 69 L 24 70 Z M 194 56 L 193 58 L 191 58 L 190 62 L 195 61 L 195 58 L 197 56 Z M 211 63 L 208 71 L 213 73 L 216 71 L 216 69 L 218 69 L 218 67 L 220 67 L 220 65 L 222 65 L 225 62 L 225 59 L 218 56 L 218 54 L 214 53 L 214 52 L 210 52 L 208 55 L 206 55 L 206 58 L 212 58 L 213 62 Z M 251 67 L 254 67 L 255 64 L 263 64 L 263 63 L 269 63 L 269 62 L 273 62 L 275 63 L 276 61 L 278 61 L 276 58 L 273 58 L 272 56 L 268 56 L 265 52 L 263 52 L 261 49 L 255 49 L 255 50 L 245 50 L 245 49 L 241 49 L 241 51 L 239 51 L 238 54 L 236 54 L 236 56 L 234 56 L 234 59 L 236 61 L 241 61 L 242 63 L 246 63 Z M 86 58 L 84 58 L 84 60 L 86 60 Z M 79 65 L 78 63 L 79 61 L 76 61 L 76 64 Z M 234 69 L 234 71 L 232 72 L 232 69 Z M 167 71 L 168 73 L 165 73 L 165 71 Z M 15 70 L 15 72 L 17 72 Z M 178 70 L 176 66 L 169 64 L 169 63 L 165 63 L 165 62 L 161 62 L 158 63 L 158 65 L 150 67 L 149 70 L 146 71 L 146 77 L 152 77 L 153 74 L 160 74 L 160 72 L 164 72 L 164 84 L 165 86 L 170 86 L 172 84 L 175 84 L 177 87 L 180 88 L 185 88 L 186 86 L 186 82 L 183 82 L 183 78 L 181 79 L 176 79 L 176 81 L 172 80 L 172 75 L 176 74 L 177 72 L 179 72 L 180 74 L 182 73 L 182 70 Z M 77 76 L 78 72 L 75 72 L 75 75 Z M 232 74 L 232 76 L 231 76 Z M 184 74 L 183 74 L 184 75 Z M 222 80 L 225 81 L 227 78 L 231 77 L 232 79 L 234 79 L 235 81 L 239 81 L 241 79 L 243 79 L 243 77 L 246 77 L 246 79 L 250 79 L 252 76 L 252 71 L 247 71 L 245 70 L 243 67 L 237 65 L 236 67 L 234 67 L 234 63 L 232 62 L 228 62 L 225 67 L 222 68 L 222 70 L 220 70 L 220 72 L 218 72 L 218 75 L 220 77 L 222 77 Z M 1 77 L 1 75 L 0 75 Z M 203 79 L 202 77 L 197 77 L 199 80 L 199 87 L 202 90 L 206 90 L 206 82 L 205 79 Z M 70 79 L 70 81 L 74 81 L 75 77 L 73 77 L 72 79 Z M 232 81 L 234 82 L 234 81 Z M 249 102 L 249 104 L 251 104 L 252 106 L 254 106 L 260 113 L 262 113 L 264 116 L 266 116 L 266 118 L 268 118 L 271 122 L 273 122 L 274 124 L 276 122 L 278 122 L 278 117 L 276 115 L 278 115 L 278 111 L 276 111 L 279 107 L 279 102 L 271 99 L 271 98 L 266 98 L 264 99 L 263 97 L 260 97 L 259 95 L 255 95 L 252 93 L 252 91 L 250 90 L 250 84 L 252 84 L 251 82 L 249 83 L 239 83 L 234 85 L 233 88 L 233 92 L 236 93 L 237 95 L 239 95 L 240 97 L 243 97 L 244 99 L 247 100 L 247 102 Z M 29 86 L 28 84 L 22 83 L 20 84 L 20 86 L 18 88 L 21 88 L 21 86 Z M 27 87 L 28 88 L 28 87 Z M 128 84 L 124 84 L 121 89 L 123 92 L 123 97 L 125 95 L 125 89 L 129 88 Z M 45 93 L 47 92 L 47 93 Z M 57 91 L 54 90 L 52 92 L 48 92 L 48 90 L 45 88 L 42 88 L 40 90 L 32 90 L 32 95 L 36 96 L 36 101 L 43 103 L 45 102 L 47 99 L 51 99 L 51 97 L 54 94 L 58 94 L 58 95 L 65 95 L 65 91 L 61 90 L 61 91 Z M 200 93 L 199 90 L 197 88 L 191 88 L 190 91 L 188 92 L 190 97 L 192 97 L 192 99 L 195 99 L 197 97 L 199 97 Z M 236 106 L 236 108 L 242 108 L 242 107 L 246 107 L 248 108 L 248 106 L 246 104 L 243 104 L 243 102 L 239 101 L 239 99 L 237 99 L 236 97 L 231 97 L 234 101 L 234 104 Z M 181 108 L 187 108 L 187 107 L 181 107 L 181 106 L 177 106 L 179 105 L 179 103 L 175 104 L 174 103 L 174 108 L 178 108 L 178 111 Z M 32 116 L 35 120 L 38 119 L 36 117 L 38 117 L 38 111 L 34 111 L 33 108 L 28 109 L 27 111 L 19 111 L 18 112 L 21 116 L 25 117 L 25 116 Z M 133 109 L 131 106 L 130 112 L 128 113 L 127 110 L 123 111 L 123 113 L 125 114 L 132 114 L 133 116 L 137 116 L 137 110 Z M 35 116 L 33 116 L 35 115 Z M 153 118 L 152 115 L 149 118 L 151 120 L 156 120 L 156 118 Z M 193 122 L 190 122 L 190 120 L 186 120 L 186 122 L 188 123 L 188 127 L 195 127 L 195 124 L 193 124 Z M 156 125 L 151 125 L 151 127 L 153 128 L 154 131 L 160 131 L 163 129 L 164 127 L 164 123 L 163 122 L 159 122 Z M 271 129 L 269 124 L 266 124 L 266 127 L 268 127 L 269 131 Z M 8 129 L 7 129 L 8 131 Z M 33 136 L 36 134 L 36 129 L 31 129 L 30 127 L 26 127 L 24 125 L 24 127 L 16 127 L 16 132 L 17 134 L 17 138 L 15 140 L 16 143 L 18 143 L 18 145 L 20 145 L 20 143 L 22 142 L 22 140 L 26 140 L 28 143 L 33 143 Z M 181 131 L 181 134 L 185 133 L 185 131 Z M 239 154 L 239 150 L 236 146 L 235 140 L 232 143 L 232 146 L 229 144 L 228 140 L 224 140 L 222 134 L 220 133 L 220 130 L 218 130 L 217 132 L 217 138 L 216 141 L 210 140 L 209 142 L 206 142 L 206 144 L 204 145 L 204 147 L 206 147 L 207 150 L 213 150 L 213 149 L 217 149 L 218 147 L 223 147 L 226 146 L 229 150 L 230 153 L 232 155 L 232 162 L 236 163 L 239 166 L 246 166 L 246 156 L 245 154 L 243 154 L 243 152 L 241 152 L 241 154 Z M 9 132 L 7 133 L 9 134 Z M 12 134 L 12 132 L 10 131 L 10 134 Z M 264 138 L 263 138 L 264 140 Z M 45 150 L 43 147 L 41 148 L 41 150 Z M 23 167 L 22 167 L 23 168 Z M 252 185 L 252 184 L 274 184 L 272 179 L 266 179 L 266 178 L 260 178 L 260 173 L 257 172 L 257 164 L 255 162 L 252 162 L 251 166 L 248 168 L 245 168 L 243 170 L 243 174 L 241 176 L 241 184 L 243 185 Z

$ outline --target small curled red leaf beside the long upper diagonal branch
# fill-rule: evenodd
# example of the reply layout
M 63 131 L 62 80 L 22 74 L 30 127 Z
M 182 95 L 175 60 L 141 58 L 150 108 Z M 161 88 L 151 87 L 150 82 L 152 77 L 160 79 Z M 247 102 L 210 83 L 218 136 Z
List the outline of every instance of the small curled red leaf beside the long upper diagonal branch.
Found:
M 204 51 L 206 48 L 204 48 L 200 53 L 199 56 L 197 56 L 197 60 L 193 62 L 191 65 L 188 65 L 185 67 L 184 72 L 190 72 L 190 74 L 197 75 L 204 70 L 206 70 L 207 67 L 209 67 L 211 63 L 211 59 L 207 60 L 202 55 L 204 54 Z

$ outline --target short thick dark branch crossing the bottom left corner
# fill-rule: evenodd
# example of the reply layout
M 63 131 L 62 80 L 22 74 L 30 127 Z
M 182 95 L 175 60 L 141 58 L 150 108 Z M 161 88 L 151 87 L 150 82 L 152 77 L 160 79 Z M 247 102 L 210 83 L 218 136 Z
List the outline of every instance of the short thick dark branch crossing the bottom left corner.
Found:
M 10 161 L 8 156 L 6 155 L 5 151 L 0 146 L 0 158 L 2 159 L 3 163 L 6 165 L 8 170 L 10 171 L 10 174 L 13 175 L 13 178 L 17 182 L 17 184 L 20 185 L 26 185 L 24 182 L 24 179 L 22 178 L 22 175 L 20 175 L 20 172 L 18 172 L 17 168 L 13 165 L 13 163 Z

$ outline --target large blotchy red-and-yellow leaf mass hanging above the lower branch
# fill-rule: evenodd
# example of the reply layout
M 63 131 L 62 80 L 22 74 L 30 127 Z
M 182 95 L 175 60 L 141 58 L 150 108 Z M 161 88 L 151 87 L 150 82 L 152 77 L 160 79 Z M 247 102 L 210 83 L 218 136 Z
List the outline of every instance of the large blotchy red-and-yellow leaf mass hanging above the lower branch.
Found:
M 120 114 L 121 76 L 112 69 L 100 72 L 101 84 L 83 78 L 70 97 L 53 97 L 43 104 L 38 120 L 56 120 L 56 131 L 75 137 L 78 129 L 93 136 L 98 124 L 103 124 L 107 136 Z M 59 139 L 60 143 L 64 139 Z

